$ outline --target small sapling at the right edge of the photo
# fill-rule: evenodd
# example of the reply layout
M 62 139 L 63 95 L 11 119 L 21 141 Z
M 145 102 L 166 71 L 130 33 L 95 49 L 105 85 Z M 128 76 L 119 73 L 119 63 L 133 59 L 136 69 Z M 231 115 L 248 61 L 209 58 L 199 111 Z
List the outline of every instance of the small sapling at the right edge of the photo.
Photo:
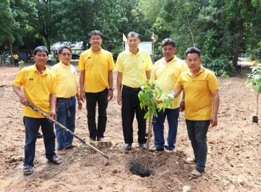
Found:
M 256 69 L 256 71 L 255 71 Z M 247 86 L 252 86 L 255 90 L 256 94 L 256 119 L 258 119 L 258 96 L 261 94 L 261 69 L 258 67 L 255 67 L 252 69 L 252 71 L 255 71 L 254 73 L 248 74 L 248 79 L 246 81 Z M 256 122 L 258 123 L 258 121 Z

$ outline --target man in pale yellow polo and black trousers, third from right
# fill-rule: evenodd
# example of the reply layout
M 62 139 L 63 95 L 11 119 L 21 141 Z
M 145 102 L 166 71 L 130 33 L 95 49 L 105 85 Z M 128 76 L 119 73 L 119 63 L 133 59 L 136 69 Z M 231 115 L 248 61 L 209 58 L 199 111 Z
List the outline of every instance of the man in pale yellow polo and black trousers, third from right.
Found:
M 117 57 L 117 103 L 122 106 L 122 128 L 124 134 L 124 149 L 131 150 L 133 143 L 133 119 L 136 113 L 138 123 L 138 143 L 146 149 L 146 119 L 145 110 L 141 110 L 138 93 L 141 86 L 150 79 L 152 62 L 150 54 L 140 49 L 139 34 L 130 32 L 127 36 L 128 50 L 122 51 Z M 123 85 L 123 86 L 122 86 Z

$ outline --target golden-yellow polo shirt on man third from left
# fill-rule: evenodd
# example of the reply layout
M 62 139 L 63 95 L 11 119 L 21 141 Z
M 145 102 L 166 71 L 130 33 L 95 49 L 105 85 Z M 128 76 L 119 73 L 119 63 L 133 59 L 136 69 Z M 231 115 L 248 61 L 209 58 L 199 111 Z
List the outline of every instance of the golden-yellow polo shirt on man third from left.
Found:
M 113 56 L 104 49 L 98 53 L 88 49 L 80 54 L 78 69 L 85 70 L 84 92 L 104 91 L 109 88 L 108 71 L 114 69 Z

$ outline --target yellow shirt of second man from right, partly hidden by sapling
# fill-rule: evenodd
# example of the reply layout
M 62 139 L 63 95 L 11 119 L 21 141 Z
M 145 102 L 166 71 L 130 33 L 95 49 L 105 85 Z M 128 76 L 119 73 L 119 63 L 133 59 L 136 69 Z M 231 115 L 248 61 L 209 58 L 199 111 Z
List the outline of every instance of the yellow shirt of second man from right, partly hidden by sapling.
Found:
M 166 64 L 164 58 L 158 60 L 152 67 L 150 80 L 157 80 L 162 87 L 163 93 L 170 93 L 176 84 L 179 75 L 188 70 L 188 65 L 183 60 L 174 56 L 174 58 Z M 180 94 L 176 101 L 172 101 L 172 107 L 179 108 L 181 104 L 182 94 Z

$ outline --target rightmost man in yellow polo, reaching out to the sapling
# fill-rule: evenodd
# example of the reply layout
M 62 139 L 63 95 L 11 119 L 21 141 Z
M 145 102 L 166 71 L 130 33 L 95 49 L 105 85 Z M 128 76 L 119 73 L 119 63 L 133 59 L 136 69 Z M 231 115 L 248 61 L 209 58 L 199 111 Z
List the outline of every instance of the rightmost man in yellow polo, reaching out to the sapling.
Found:
M 185 93 L 185 123 L 194 158 L 186 158 L 184 162 L 196 165 L 196 169 L 188 175 L 198 178 L 205 171 L 207 130 L 209 125 L 211 127 L 218 125 L 218 80 L 212 71 L 201 66 L 202 59 L 199 49 L 190 47 L 185 54 L 189 70 L 179 75 L 172 93 L 176 98 L 181 91 Z M 158 103 L 161 102 L 159 99 Z

